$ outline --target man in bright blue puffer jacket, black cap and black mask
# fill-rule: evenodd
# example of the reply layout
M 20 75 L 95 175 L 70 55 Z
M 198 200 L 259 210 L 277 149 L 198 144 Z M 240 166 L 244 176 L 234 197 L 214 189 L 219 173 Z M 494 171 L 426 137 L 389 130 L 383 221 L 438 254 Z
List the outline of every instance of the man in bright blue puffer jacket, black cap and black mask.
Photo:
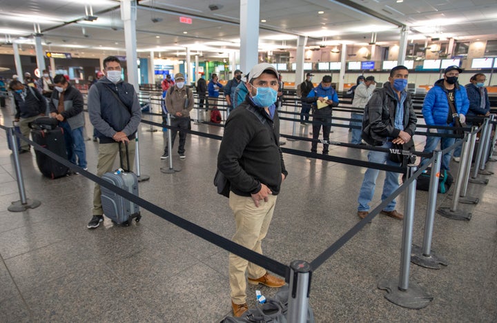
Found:
M 454 126 L 454 121 L 460 121 L 464 124 L 466 113 L 469 109 L 469 99 L 466 88 L 458 83 L 459 74 L 462 69 L 453 65 L 445 69 L 443 79 L 435 82 L 423 101 L 422 115 L 425 117 L 427 126 Z M 451 106 L 454 107 L 452 112 Z M 448 129 L 428 128 L 428 133 L 453 134 L 454 131 Z M 441 141 L 440 148 L 444 150 L 454 145 L 455 138 L 427 136 L 425 149 L 423 153 L 431 153 Z M 449 170 L 449 163 L 452 152 L 448 151 L 442 157 L 440 169 Z M 421 165 L 427 163 L 429 159 L 422 158 Z

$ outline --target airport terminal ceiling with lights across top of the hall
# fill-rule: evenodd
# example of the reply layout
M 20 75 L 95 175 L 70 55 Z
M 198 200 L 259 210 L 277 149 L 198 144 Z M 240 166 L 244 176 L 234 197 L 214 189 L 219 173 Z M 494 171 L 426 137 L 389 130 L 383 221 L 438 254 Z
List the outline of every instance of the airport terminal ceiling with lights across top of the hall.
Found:
M 43 35 L 43 50 L 75 57 L 126 55 L 119 1 L 0 0 L 0 54 L 35 55 L 32 35 Z M 180 17 L 187 22 L 181 23 Z M 185 48 L 203 60 L 228 58 L 240 49 L 239 0 L 143 0 L 137 3 L 138 57 L 150 51 L 182 58 Z M 409 41 L 447 42 L 497 39 L 496 0 L 261 0 L 260 51 L 295 48 L 298 35 L 307 46 L 367 46 L 398 43 L 400 28 Z M 256 28 L 256 26 L 253 26 Z

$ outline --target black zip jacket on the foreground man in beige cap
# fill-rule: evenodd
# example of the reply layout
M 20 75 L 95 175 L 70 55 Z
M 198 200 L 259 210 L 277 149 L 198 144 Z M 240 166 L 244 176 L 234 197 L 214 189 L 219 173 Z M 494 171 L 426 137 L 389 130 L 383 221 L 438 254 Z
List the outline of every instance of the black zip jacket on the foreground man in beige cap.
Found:
M 280 119 L 273 119 L 250 97 L 230 113 L 224 127 L 217 168 L 226 176 L 233 193 L 251 196 L 261 183 L 280 193 L 282 174 L 288 174 L 280 150 Z

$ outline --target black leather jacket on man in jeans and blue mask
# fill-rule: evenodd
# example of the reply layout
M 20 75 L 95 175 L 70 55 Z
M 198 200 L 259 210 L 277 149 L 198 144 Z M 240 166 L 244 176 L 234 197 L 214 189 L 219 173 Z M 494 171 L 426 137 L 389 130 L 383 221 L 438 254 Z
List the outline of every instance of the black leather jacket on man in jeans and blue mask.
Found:
M 373 146 L 381 146 L 387 138 L 395 139 L 400 129 L 395 128 L 395 112 L 398 97 L 386 83 L 383 88 L 375 90 L 364 108 L 362 119 L 362 139 Z M 418 118 L 414 113 L 411 94 L 407 92 L 404 101 L 404 131 L 411 137 L 416 130 Z M 412 140 L 412 138 L 411 138 Z

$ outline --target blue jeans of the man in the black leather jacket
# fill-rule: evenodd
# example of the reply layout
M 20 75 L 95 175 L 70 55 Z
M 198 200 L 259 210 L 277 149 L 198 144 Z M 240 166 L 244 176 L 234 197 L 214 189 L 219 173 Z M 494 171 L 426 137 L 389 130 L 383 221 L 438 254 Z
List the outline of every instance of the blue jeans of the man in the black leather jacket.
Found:
M 391 148 L 392 143 L 391 142 L 386 142 L 383 144 L 381 147 L 382 148 Z M 395 163 L 389 159 L 389 153 L 382 153 L 380 151 L 373 151 L 371 150 L 368 154 L 368 161 L 371 163 L 378 163 L 378 164 L 387 164 L 391 166 L 400 166 L 400 164 Z M 364 173 L 364 180 L 362 181 L 362 186 L 359 191 L 359 197 L 358 197 L 358 211 L 369 211 L 369 202 L 371 202 L 371 199 L 373 199 L 374 195 L 374 189 L 376 186 L 376 179 L 378 178 L 378 174 L 380 173 L 380 170 L 378 169 L 373 169 L 373 168 L 368 168 L 366 170 L 366 173 Z M 392 173 L 392 172 L 387 172 L 385 174 L 385 179 L 383 183 L 383 193 L 382 193 L 382 201 L 384 199 L 387 199 L 393 193 L 394 190 L 396 190 L 399 186 L 398 183 L 398 177 L 399 173 Z M 393 199 L 392 202 L 390 202 L 386 208 L 384 208 L 384 211 L 393 211 L 396 208 L 396 200 Z

